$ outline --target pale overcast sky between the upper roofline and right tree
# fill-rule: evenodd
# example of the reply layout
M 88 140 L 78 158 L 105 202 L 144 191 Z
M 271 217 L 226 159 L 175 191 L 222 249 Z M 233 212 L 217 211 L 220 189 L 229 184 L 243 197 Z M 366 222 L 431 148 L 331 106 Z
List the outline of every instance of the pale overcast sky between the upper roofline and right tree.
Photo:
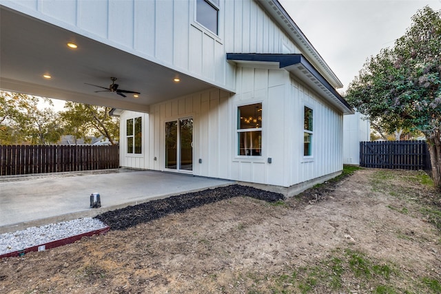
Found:
M 393 47 L 416 12 L 441 0 L 279 0 L 346 90 L 369 56 Z

